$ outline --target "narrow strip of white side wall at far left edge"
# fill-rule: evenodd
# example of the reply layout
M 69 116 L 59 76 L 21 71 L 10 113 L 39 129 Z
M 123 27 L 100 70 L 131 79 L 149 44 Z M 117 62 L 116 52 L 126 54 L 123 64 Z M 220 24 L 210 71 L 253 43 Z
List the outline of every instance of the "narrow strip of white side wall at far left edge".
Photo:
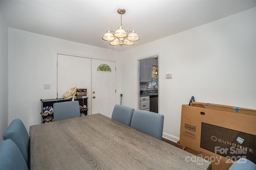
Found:
M 0 12 L 0 141 L 8 127 L 8 27 Z

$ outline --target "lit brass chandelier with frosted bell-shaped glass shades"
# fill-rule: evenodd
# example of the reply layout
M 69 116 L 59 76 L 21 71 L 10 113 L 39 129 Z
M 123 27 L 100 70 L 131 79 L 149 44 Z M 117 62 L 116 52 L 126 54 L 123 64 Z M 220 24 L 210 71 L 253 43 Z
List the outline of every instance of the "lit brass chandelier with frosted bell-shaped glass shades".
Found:
M 110 26 L 108 28 L 107 33 L 105 33 L 105 35 L 102 37 L 102 39 L 104 39 L 105 41 L 110 41 L 110 43 L 109 43 L 110 45 L 120 45 L 120 46 L 122 46 L 123 44 L 124 45 L 134 45 L 133 41 L 138 41 L 140 38 L 135 33 L 133 27 L 128 27 L 126 29 L 126 31 L 124 31 L 124 29 L 122 27 L 122 14 L 125 14 L 125 9 L 119 8 L 117 10 L 117 12 L 118 12 L 118 14 L 121 14 L 120 27 L 118 27 L 118 29 L 116 30 L 115 27 Z M 115 31 L 110 31 L 110 28 L 114 28 Z M 132 31 L 128 31 L 128 29 L 130 29 L 130 28 L 132 29 Z M 114 35 L 111 32 L 113 32 Z

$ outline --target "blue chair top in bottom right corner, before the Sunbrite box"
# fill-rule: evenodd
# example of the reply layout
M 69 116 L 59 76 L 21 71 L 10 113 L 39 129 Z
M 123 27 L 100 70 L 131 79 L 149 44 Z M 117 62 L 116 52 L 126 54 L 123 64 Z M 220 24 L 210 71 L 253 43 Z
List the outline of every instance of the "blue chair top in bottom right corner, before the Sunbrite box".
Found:
M 256 165 L 246 158 L 241 158 L 232 164 L 228 170 L 256 170 Z

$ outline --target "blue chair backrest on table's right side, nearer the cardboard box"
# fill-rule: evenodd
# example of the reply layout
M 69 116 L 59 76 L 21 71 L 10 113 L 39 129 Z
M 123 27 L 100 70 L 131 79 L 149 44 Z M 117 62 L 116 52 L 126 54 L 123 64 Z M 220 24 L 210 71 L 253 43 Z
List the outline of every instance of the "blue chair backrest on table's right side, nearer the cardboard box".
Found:
M 162 140 L 164 115 L 135 109 L 132 115 L 131 127 Z

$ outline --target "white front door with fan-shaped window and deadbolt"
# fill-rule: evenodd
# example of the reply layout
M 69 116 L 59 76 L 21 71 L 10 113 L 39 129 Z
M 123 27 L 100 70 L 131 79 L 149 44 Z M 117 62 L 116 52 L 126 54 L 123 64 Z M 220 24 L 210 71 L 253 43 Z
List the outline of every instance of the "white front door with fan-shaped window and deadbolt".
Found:
M 100 65 L 110 70 L 98 71 Z M 116 104 L 116 62 L 92 59 L 92 114 L 111 117 Z

